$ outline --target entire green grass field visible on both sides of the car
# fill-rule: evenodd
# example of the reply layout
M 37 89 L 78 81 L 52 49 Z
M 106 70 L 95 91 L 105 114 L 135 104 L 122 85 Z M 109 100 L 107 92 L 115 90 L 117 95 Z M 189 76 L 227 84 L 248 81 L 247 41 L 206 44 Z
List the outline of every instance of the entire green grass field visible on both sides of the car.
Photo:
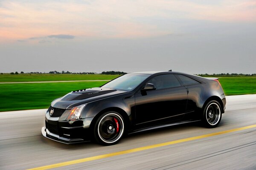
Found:
M 113 79 L 119 75 L 56 75 L 56 79 L 54 76 L 49 78 L 48 75 L 46 77 L 41 75 L 41 79 L 39 79 L 37 76 L 35 76 L 35 78 L 27 77 L 26 81 L 81 80 L 81 77 L 83 77 L 85 80 Z M 12 82 L 13 79 L 14 78 L 11 77 L 8 81 Z M 24 81 L 20 78 L 19 80 L 22 82 Z M 7 80 L 4 81 L 8 82 Z M 222 88 L 224 89 L 226 95 L 256 94 L 256 77 L 220 77 L 219 81 L 221 82 Z M 0 111 L 48 108 L 53 99 L 64 96 L 70 91 L 99 87 L 104 83 L 106 83 L 106 81 L 0 84 Z

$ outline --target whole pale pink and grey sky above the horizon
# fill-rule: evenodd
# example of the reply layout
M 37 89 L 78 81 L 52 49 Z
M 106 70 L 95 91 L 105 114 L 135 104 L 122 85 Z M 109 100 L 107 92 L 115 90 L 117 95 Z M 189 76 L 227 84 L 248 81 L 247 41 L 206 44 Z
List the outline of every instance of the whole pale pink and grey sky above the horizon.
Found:
M 256 73 L 256 0 L 0 0 L 0 73 Z

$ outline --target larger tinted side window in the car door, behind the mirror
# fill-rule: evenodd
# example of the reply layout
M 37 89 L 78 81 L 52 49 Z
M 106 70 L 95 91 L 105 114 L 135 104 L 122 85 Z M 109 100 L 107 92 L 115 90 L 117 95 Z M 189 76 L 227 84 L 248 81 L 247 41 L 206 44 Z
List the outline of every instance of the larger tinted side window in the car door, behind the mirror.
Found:
M 155 85 L 156 89 L 163 89 L 163 88 L 172 88 L 181 86 L 180 82 L 173 74 L 164 74 L 160 76 L 156 76 L 149 80 L 147 83 L 152 83 Z

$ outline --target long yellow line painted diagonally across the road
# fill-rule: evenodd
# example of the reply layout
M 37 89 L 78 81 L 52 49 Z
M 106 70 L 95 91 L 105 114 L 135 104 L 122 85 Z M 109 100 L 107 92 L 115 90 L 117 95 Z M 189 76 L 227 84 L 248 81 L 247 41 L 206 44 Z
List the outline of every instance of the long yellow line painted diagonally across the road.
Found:
M 179 140 L 160 143 L 160 144 L 153 144 L 153 145 L 144 146 L 144 147 L 137 147 L 134 149 L 123 150 L 123 151 L 114 152 L 114 153 L 107 153 L 104 155 L 92 156 L 92 157 L 83 158 L 83 159 L 76 159 L 73 161 L 66 161 L 66 162 L 62 162 L 62 163 L 58 163 L 58 164 L 51 164 L 51 165 L 47 165 L 47 166 L 43 166 L 43 167 L 36 167 L 36 168 L 29 169 L 29 170 L 47 170 L 47 169 L 56 168 L 56 167 L 63 167 L 63 166 L 67 166 L 67 165 L 78 164 L 78 163 L 82 163 L 82 162 L 93 161 L 93 160 L 108 158 L 108 157 L 112 157 L 112 156 L 123 155 L 123 154 L 127 154 L 127 153 L 139 152 L 142 150 L 148 150 L 148 149 L 152 149 L 152 148 L 156 148 L 156 147 L 162 147 L 162 146 L 167 146 L 167 145 L 171 145 L 171 144 L 177 144 L 177 143 L 181 143 L 181 142 L 188 142 L 188 141 L 192 141 L 192 140 L 196 140 L 196 139 L 207 138 L 210 136 L 216 136 L 216 135 L 221 135 L 221 134 L 225 134 L 225 133 L 236 132 L 239 130 L 250 129 L 253 127 L 256 127 L 256 125 L 245 126 L 245 127 L 240 127 L 240 128 L 231 129 L 231 130 L 224 130 L 221 132 L 209 133 L 206 135 L 195 136 L 195 137 L 190 137 L 190 138 L 185 138 L 185 139 L 179 139 Z

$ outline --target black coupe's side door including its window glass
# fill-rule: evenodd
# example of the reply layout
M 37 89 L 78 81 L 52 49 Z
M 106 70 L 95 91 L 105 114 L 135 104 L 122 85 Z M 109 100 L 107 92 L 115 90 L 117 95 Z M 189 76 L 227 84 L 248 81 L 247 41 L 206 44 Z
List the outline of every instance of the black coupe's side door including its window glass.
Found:
M 136 125 L 157 124 L 182 119 L 186 110 L 187 91 L 173 74 L 153 77 L 155 90 L 135 94 Z M 146 84 L 147 84 L 146 83 Z

